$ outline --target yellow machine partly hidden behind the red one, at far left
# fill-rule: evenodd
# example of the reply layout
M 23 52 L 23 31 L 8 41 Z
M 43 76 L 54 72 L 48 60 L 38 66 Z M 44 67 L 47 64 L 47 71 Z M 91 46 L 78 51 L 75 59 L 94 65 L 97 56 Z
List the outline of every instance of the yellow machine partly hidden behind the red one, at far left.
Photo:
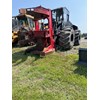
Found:
M 17 16 L 12 17 L 12 45 L 29 45 L 28 43 L 30 43 L 30 41 L 28 41 L 27 37 L 25 36 L 27 31 L 33 31 L 33 19 L 33 16 L 27 14 L 19 14 Z

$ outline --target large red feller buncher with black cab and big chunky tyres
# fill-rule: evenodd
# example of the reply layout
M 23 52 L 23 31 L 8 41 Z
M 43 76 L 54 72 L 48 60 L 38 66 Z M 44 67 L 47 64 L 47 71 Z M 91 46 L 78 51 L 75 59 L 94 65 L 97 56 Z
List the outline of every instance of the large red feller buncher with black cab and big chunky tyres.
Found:
M 34 17 L 30 22 L 33 25 L 31 28 L 22 27 L 24 32 L 21 29 L 18 32 L 19 45 L 26 40 L 32 42 L 33 48 L 27 49 L 25 53 L 32 51 L 34 54 L 45 55 L 80 44 L 80 30 L 69 21 L 69 11 L 66 7 L 50 10 L 38 6 L 19 9 L 19 12 L 20 15 Z

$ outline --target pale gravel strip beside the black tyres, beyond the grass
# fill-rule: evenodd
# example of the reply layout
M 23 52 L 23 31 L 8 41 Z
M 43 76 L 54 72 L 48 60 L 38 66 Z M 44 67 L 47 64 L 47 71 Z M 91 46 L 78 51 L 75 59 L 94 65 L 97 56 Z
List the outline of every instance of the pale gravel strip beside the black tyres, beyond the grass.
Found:
M 65 52 L 59 52 L 62 55 L 67 55 L 67 54 L 78 54 L 79 48 L 87 48 L 87 40 L 82 38 L 80 41 L 79 46 L 74 46 L 71 50 L 65 51 Z

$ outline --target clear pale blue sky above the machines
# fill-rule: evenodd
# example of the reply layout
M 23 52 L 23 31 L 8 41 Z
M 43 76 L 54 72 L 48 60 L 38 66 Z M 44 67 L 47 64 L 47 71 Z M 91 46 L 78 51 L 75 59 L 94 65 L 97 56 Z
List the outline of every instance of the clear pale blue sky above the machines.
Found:
M 70 21 L 77 25 L 82 33 L 87 32 L 87 0 L 12 0 L 12 16 L 18 15 L 20 8 L 39 5 L 49 9 L 67 7 Z

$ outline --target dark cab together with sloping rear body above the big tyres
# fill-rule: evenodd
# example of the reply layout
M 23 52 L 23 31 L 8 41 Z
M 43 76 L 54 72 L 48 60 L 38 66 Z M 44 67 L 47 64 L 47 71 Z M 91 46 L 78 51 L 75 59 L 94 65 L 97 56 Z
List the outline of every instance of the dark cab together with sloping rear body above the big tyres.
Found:
M 72 27 L 74 30 L 78 29 L 76 25 L 69 21 L 69 11 L 66 7 L 52 10 L 52 22 L 55 34 L 57 34 L 57 30 L 62 30 L 66 27 Z

